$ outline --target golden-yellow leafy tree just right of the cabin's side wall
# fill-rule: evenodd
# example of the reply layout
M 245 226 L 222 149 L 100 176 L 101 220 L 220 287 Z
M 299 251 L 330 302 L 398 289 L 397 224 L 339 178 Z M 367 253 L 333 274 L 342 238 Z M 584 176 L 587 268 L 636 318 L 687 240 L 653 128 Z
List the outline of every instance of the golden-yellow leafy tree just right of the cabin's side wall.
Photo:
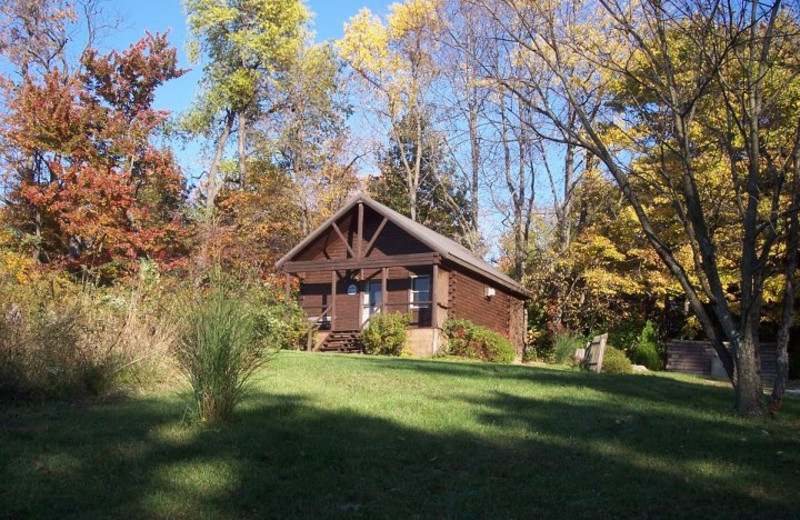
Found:
M 556 216 L 543 223 L 525 266 L 534 314 L 543 315 L 552 332 L 638 332 L 664 314 L 680 287 L 638 232 L 635 213 L 613 183 L 588 172 L 573 201 L 579 214 L 570 219 L 570 246 L 562 247 Z

